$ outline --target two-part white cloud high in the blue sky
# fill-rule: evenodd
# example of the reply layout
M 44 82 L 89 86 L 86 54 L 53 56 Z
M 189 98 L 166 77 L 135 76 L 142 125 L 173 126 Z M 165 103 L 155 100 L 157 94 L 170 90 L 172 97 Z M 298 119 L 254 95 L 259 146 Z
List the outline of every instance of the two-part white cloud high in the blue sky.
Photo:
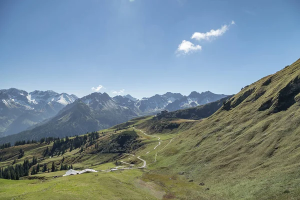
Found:
M 235 24 L 235 21 L 231 21 L 229 24 L 225 24 L 222 25 L 220 28 L 214 30 L 211 29 L 207 32 L 194 32 L 190 39 L 195 39 L 197 41 L 201 41 L 201 40 L 207 40 L 207 41 L 211 41 L 213 39 L 216 39 L 217 37 L 221 36 L 222 34 L 224 34 L 230 27 L 230 25 Z M 201 50 L 202 46 L 198 45 L 198 44 L 193 44 L 190 41 L 187 40 L 182 40 L 181 43 L 178 45 L 177 50 L 175 51 L 175 54 L 177 56 L 179 55 L 186 55 L 198 50 Z

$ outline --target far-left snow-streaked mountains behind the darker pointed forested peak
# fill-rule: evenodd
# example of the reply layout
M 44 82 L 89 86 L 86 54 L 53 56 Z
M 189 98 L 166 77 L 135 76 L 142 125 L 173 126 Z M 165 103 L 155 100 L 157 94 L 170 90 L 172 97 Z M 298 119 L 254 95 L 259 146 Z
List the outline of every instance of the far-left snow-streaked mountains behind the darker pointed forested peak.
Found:
M 17 133 L 54 116 L 78 97 L 51 90 L 27 92 L 9 88 L 0 90 L 0 136 Z

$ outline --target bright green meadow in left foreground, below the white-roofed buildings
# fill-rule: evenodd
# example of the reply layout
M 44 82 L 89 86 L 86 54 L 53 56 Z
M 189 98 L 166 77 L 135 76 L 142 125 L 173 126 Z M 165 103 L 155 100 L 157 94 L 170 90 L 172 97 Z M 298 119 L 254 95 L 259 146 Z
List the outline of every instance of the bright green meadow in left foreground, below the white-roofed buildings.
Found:
M 56 174 L 51 173 L 48 174 Z M 140 182 L 141 175 L 140 170 L 126 170 L 47 180 L 0 179 L 0 199 L 157 199 L 164 193 L 158 187 L 153 189 L 153 185 Z

